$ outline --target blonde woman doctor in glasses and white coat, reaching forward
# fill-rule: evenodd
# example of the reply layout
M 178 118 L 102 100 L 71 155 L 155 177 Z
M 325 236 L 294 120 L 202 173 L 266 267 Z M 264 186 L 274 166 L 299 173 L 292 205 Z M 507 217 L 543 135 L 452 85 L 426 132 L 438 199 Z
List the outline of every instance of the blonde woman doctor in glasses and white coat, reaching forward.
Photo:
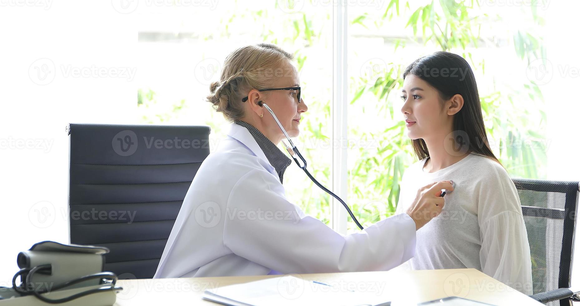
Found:
M 284 134 L 262 103 L 298 135 L 308 107 L 292 59 L 270 44 L 227 57 L 208 100 L 231 129 L 195 175 L 155 278 L 384 271 L 414 256 L 415 232 L 441 212 L 448 181 L 419 189 L 406 213 L 348 236 L 286 199 L 291 160 L 277 148 Z

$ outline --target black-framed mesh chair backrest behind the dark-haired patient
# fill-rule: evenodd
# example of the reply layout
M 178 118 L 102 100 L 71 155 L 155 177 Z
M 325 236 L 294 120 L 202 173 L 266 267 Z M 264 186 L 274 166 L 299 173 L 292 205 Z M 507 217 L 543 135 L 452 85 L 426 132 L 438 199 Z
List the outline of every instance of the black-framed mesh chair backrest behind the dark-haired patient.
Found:
M 532 258 L 534 294 L 569 288 L 578 208 L 578 182 L 513 179 Z M 571 305 L 568 300 L 548 305 Z

